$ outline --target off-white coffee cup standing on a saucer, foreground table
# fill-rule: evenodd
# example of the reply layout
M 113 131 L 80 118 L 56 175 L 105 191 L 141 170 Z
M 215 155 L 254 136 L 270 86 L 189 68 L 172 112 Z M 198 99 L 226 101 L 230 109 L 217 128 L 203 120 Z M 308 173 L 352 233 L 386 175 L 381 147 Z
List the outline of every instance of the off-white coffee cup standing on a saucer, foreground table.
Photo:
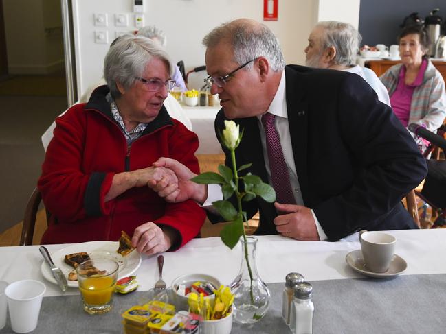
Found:
M 359 232 L 361 251 L 366 267 L 371 272 L 386 272 L 392 261 L 397 239 L 379 231 Z

